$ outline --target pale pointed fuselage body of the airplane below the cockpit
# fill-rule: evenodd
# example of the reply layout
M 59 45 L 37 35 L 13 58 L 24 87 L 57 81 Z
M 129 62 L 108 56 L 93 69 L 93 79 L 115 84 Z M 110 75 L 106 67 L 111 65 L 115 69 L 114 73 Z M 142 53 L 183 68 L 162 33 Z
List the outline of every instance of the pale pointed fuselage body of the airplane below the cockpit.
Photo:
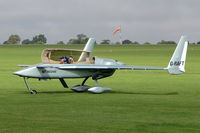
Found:
M 62 70 L 59 69 L 57 65 L 52 65 L 46 68 L 37 68 L 37 66 L 30 66 L 15 72 L 15 75 L 28 78 L 38 78 L 38 79 L 59 79 L 59 78 L 85 78 L 92 77 L 93 79 L 101 79 L 104 77 L 111 76 L 115 69 L 107 70 Z M 67 64 L 66 64 L 67 65 Z

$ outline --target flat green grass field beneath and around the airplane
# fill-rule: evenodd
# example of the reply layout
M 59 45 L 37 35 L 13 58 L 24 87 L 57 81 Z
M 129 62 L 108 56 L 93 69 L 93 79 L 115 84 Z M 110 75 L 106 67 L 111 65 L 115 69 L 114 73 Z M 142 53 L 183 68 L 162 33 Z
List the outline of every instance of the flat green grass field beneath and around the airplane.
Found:
M 189 46 L 186 73 L 116 71 L 99 80 L 103 94 L 75 93 L 58 80 L 12 75 L 18 64 L 41 62 L 44 48 L 83 46 L 0 46 L 0 133 L 192 133 L 200 132 L 200 46 Z M 175 49 L 166 46 L 95 46 L 93 55 L 137 66 L 166 67 Z M 66 79 L 69 86 L 83 79 Z M 86 82 L 94 85 L 90 79 Z

